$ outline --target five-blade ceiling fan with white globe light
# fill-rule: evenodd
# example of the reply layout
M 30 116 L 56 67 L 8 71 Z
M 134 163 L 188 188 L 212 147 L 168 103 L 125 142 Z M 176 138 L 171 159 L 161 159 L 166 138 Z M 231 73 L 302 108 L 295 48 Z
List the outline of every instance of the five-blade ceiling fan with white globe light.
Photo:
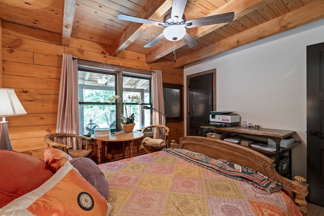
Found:
M 164 22 L 133 17 L 125 14 L 118 14 L 117 17 L 120 20 L 165 27 L 164 31 L 149 41 L 144 48 L 152 47 L 163 37 L 170 41 L 182 39 L 188 47 L 192 48 L 197 45 L 197 42 L 186 32 L 186 28 L 231 22 L 234 18 L 234 12 L 229 12 L 186 21 L 185 15 L 183 14 L 186 4 L 187 0 L 173 0 L 171 13 L 164 17 Z

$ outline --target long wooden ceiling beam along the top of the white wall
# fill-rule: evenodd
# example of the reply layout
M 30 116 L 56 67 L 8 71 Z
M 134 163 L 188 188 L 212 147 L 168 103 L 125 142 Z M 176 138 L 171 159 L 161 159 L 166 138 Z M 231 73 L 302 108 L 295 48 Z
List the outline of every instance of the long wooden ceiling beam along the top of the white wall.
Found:
M 295 11 L 289 12 L 268 22 L 228 37 L 222 41 L 216 42 L 215 44 L 206 48 L 183 56 L 177 59 L 177 63 L 174 64 L 174 68 L 192 63 L 193 59 L 194 61 L 206 59 L 233 48 L 257 41 L 260 38 L 265 38 L 280 32 L 284 32 L 288 29 L 305 25 L 322 18 L 324 18 L 324 4 L 322 0 L 318 0 L 307 6 L 296 9 Z

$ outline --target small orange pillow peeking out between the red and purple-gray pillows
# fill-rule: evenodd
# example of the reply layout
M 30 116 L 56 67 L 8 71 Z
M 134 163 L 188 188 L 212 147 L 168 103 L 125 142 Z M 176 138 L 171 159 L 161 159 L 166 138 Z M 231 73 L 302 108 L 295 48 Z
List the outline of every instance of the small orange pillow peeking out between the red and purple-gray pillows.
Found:
M 46 147 L 44 150 L 44 161 L 49 164 L 54 172 L 57 172 L 64 163 L 72 158 L 64 151 Z

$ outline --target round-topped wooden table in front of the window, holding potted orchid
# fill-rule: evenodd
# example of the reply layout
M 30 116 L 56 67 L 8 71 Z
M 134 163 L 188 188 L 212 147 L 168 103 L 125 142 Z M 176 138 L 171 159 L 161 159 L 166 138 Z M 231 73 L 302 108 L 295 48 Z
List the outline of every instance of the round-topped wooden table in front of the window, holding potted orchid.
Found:
M 96 137 L 95 135 L 91 135 L 91 138 L 95 141 L 95 147 L 97 147 L 98 163 L 101 163 L 102 142 L 123 142 L 123 158 L 125 158 L 125 142 L 130 142 L 130 157 L 133 157 L 134 142 L 137 142 L 137 140 L 142 137 L 143 133 L 139 131 L 134 131 L 131 133 L 117 131 L 116 133 L 110 133 L 104 137 Z M 107 152 L 105 155 L 107 156 Z

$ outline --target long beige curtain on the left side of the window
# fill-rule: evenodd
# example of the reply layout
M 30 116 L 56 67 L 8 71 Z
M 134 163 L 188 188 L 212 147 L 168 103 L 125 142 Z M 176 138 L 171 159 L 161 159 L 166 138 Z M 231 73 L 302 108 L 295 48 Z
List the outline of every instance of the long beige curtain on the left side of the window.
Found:
M 77 59 L 63 54 L 56 133 L 80 134 Z

